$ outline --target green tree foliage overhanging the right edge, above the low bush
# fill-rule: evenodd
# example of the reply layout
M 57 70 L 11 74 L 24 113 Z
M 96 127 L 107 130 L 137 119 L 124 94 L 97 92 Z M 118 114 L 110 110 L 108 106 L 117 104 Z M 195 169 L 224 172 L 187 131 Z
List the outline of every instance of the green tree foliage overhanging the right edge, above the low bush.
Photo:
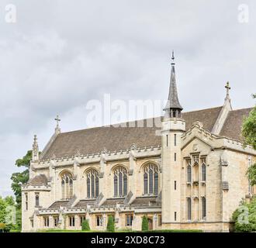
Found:
M 253 95 L 256 98 L 256 95 Z M 256 150 L 256 106 L 251 110 L 249 116 L 244 119 L 242 134 L 244 136 L 244 145 L 250 145 Z M 247 171 L 247 176 L 251 185 L 256 184 L 256 164 L 252 164 Z

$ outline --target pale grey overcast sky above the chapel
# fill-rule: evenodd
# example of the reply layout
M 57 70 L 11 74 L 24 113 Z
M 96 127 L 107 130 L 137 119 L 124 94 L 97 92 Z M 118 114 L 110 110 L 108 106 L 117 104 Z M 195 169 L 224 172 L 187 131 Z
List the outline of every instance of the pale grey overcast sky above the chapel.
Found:
M 0 2 L 0 195 L 10 195 L 15 160 L 40 150 L 61 115 L 62 131 L 86 127 L 86 103 L 168 97 L 175 50 L 184 111 L 254 105 L 254 0 L 12 0 L 16 23 Z M 249 21 L 238 21 L 247 4 Z

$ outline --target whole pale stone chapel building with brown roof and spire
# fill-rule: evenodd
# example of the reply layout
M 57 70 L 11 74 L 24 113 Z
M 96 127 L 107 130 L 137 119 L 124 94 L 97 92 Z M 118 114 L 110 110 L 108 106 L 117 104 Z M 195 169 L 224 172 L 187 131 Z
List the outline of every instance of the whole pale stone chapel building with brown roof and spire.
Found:
M 109 215 L 116 229 L 140 230 L 146 215 L 150 229 L 230 231 L 239 202 L 256 192 L 246 176 L 256 151 L 241 138 L 251 108 L 232 109 L 226 88 L 223 106 L 182 112 L 172 56 L 168 104 L 154 126 L 61 133 L 57 118 L 41 154 L 34 137 L 22 231 L 81 229 L 84 219 L 104 230 Z

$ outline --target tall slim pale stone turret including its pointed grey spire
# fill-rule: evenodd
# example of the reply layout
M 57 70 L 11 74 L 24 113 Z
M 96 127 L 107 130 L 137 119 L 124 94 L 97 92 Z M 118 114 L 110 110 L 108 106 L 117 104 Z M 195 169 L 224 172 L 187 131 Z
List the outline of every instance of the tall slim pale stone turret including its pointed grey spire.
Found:
M 165 115 L 161 129 L 162 159 L 162 225 L 163 228 L 178 228 L 181 219 L 181 173 L 182 150 L 181 137 L 185 132 L 185 121 L 182 119 L 182 105 L 178 101 L 175 78 L 174 53 L 171 57 L 171 81 L 168 103 L 164 108 Z

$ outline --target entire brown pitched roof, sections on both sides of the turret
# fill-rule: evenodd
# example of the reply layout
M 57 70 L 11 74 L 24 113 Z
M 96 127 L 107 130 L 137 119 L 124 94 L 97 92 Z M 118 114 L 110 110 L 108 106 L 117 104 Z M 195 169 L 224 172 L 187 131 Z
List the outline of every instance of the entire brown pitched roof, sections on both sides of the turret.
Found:
M 222 107 L 207 108 L 192 112 L 184 112 L 183 119 L 188 130 L 195 121 L 202 122 L 203 128 L 209 130 L 218 118 Z M 248 115 L 251 108 L 231 111 L 221 130 L 221 135 L 240 140 L 240 127 L 244 115 Z M 131 127 L 133 123 L 133 127 Z M 151 124 L 151 127 L 147 127 Z M 123 127 L 126 126 L 126 127 Z M 127 127 L 128 126 L 128 127 Z M 161 117 L 143 119 L 136 122 L 125 122 L 122 126 L 102 126 L 82 129 L 67 133 L 60 133 L 51 144 L 42 160 L 56 157 L 73 156 L 74 154 L 99 153 L 106 148 L 109 151 L 129 149 L 135 143 L 138 147 L 161 146 L 161 136 L 156 131 L 161 130 Z

